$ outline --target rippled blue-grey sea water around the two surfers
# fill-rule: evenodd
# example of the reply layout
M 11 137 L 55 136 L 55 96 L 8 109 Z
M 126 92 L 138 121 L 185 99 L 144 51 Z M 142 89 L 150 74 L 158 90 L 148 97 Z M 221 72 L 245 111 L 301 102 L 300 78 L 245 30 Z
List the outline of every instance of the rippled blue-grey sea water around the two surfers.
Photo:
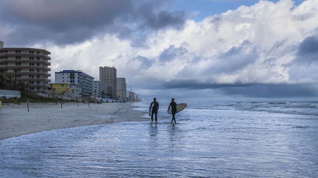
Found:
M 318 177 L 317 102 L 189 102 L 177 124 L 167 104 L 157 124 L 0 140 L 0 177 Z

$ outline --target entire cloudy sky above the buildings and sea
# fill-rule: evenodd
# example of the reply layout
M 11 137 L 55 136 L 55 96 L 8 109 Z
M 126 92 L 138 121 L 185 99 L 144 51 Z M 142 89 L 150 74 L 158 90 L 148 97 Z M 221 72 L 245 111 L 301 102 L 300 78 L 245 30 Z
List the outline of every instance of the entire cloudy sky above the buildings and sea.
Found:
M 0 24 L 51 52 L 52 82 L 115 66 L 146 99 L 318 100 L 318 0 L 3 0 Z

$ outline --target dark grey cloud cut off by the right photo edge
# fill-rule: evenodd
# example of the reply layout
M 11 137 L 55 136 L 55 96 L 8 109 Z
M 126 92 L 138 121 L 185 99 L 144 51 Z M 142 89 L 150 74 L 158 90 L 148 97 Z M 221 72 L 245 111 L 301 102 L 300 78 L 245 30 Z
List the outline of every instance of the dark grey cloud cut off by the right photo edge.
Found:
M 318 61 L 318 36 L 307 37 L 299 44 L 296 61 L 306 64 Z

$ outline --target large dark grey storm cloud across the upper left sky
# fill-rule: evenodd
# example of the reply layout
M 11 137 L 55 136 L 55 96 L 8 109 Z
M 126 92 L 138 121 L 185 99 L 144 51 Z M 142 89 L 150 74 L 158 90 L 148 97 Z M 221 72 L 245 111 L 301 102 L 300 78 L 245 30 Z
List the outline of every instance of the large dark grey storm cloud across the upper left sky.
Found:
M 8 45 L 72 44 L 95 35 L 145 37 L 153 30 L 182 28 L 185 14 L 164 10 L 169 1 L 1 1 L 2 41 Z M 5 27 L 5 28 L 4 28 Z M 26 39 L 26 40 L 21 40 Z

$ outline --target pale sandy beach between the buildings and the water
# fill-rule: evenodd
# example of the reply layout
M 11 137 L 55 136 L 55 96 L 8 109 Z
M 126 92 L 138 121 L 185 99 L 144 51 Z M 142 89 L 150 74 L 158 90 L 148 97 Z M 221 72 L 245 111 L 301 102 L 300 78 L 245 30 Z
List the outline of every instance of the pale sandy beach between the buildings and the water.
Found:
M 143 112 L 133 110 L 131 103 L 87 104 L 30 103 L 4 104 L 0 110 L 0 139 L 41 131 L 78 126 L 147 121 Z

